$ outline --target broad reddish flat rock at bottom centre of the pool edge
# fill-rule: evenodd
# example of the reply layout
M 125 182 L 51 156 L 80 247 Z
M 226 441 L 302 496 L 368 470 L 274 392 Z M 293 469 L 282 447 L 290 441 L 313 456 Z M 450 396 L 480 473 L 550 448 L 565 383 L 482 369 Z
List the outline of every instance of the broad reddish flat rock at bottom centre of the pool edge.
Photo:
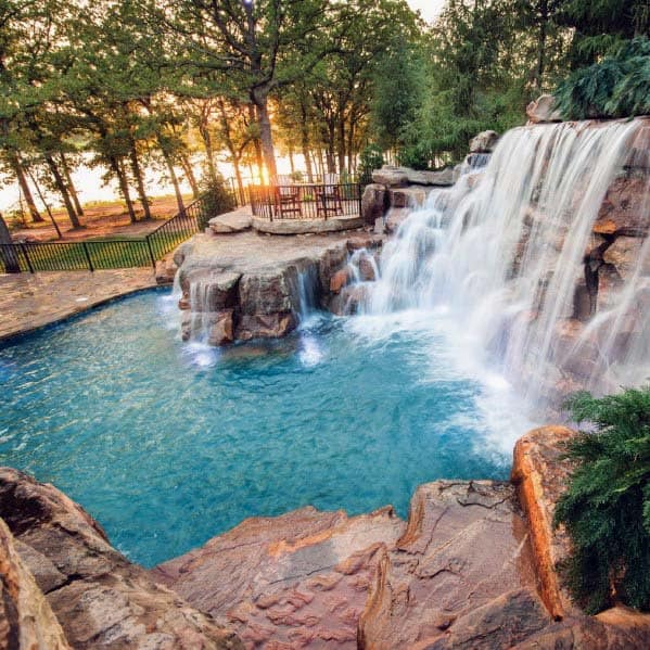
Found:
M 403 531 L 391 508 L 303 508 L 248 519 L 152 574 L 248 647 L 355 648 L 378 561 Z

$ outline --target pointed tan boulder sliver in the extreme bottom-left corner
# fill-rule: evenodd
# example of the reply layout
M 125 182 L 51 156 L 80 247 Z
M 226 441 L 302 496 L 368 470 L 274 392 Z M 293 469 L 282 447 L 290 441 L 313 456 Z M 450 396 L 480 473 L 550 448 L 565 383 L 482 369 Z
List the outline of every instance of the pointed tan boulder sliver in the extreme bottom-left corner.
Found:
M 0 648 L 69 650 L 59 621 L 0 519 Z

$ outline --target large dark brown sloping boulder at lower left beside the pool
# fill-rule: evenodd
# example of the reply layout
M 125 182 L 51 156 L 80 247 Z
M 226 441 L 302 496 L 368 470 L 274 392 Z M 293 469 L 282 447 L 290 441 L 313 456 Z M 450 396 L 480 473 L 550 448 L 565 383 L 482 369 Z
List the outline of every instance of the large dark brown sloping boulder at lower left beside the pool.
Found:
M 0 468 L 0 517 L 74 648 L 243 648 L 232 632 L 117 552 L 101 526 L 52 485 Z

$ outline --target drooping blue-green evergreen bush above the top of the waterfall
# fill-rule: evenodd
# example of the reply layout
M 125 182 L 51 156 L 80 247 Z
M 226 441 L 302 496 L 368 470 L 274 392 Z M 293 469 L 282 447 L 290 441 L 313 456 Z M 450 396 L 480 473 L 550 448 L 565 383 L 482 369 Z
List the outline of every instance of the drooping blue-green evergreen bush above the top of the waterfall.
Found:
M 635 38 L 572 73 L 556 90 L 568 119 L 650 114 L 650 39 Z

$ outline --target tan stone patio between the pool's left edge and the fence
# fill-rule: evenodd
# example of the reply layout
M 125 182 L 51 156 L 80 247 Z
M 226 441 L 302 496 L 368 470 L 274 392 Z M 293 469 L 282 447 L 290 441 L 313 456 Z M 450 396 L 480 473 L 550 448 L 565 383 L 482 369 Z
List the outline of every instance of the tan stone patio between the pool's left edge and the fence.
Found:
M 150 268 L 0 275 L 0 341 L 151 286 Z

